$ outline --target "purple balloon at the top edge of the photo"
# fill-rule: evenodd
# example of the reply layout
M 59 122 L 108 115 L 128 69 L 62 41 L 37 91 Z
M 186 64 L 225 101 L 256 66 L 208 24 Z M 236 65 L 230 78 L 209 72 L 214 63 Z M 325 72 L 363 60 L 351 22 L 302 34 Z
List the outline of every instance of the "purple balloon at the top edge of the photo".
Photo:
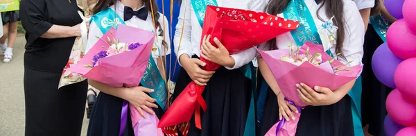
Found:
M 384 0 L 385 9 L 396 19 L 403 18 L 403 13 L 401 11 L 403 3 L 404 0 Z

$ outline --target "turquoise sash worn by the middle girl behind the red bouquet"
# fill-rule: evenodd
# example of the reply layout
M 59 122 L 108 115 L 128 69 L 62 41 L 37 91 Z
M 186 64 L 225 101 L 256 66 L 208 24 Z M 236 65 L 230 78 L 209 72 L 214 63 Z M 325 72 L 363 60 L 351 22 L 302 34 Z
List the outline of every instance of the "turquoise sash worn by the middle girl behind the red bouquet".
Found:
M 195 12 L 196 18 L 200 26 L 202 27 L 204 24 L 205 18 L 205 11 L 207 10 L 207 5 L 211 6 L 218 6 L 216 0 L 191 0 L 191 4 L 193 7 L 193 11 Z M 245 65 L 241 67 L 241 70 L 245 74 L 245 77 L 250 78 L 252 82 L 256 82 L 257 75 L 252 73 L 252 69 L 254 69 L 253 65 Z M 254 86 L 252 88 L 255 88 Z M 254 90 L 253 90 L 254 91 Z M 248 113 L 248 118 L 245 124 L 244 135 L 256 135 L 255 131 L 255 115 L 254 115 L 254 94 L 252 92 L 251 102 L 250 102 L 250 109 Z

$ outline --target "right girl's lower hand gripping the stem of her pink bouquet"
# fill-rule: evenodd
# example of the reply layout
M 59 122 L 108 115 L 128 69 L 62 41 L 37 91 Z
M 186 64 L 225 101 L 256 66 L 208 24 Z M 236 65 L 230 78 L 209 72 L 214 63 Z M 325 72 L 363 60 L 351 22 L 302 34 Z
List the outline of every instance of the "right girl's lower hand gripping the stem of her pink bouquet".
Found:
M 293 115 L 293 112 L 299 113 L 297 111 L 297 108 L 295 105 L 291 105 L 284 99 L 284 95 L 279 92 L 277 94 L 277 103 L 279 104 L 279 120 L 281 120 L 281 117 L 284 117 L 286 121 L 291 121 L 290 119 L 295 120 L 295 116 Z

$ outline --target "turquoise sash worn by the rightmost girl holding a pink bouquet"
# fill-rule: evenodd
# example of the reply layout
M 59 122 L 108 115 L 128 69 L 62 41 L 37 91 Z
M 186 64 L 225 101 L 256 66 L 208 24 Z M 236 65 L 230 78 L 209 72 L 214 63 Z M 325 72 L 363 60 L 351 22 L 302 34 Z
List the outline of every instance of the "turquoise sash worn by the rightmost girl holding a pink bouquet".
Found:
M 303 0 L 292 0 L 283 13 L 287 19 L 300 21 L 300 26 L 295 31 L 291 31 L 297 46 L 302 46 L 306 41 L 313 42 L 313 44 L 322 44 L 318 34 L 318 28 L 316 28 L 311 12 L 309 12 Z M 333 56 L 331 51 L 328 50 L 326 52 L 330 56 Z M 348 92 L 348 95 L 352 99 L 351 108 L 356 136 L 364 135 L 361 126 L 361 91 L 361 77 L 358 77 L 352 90 Z

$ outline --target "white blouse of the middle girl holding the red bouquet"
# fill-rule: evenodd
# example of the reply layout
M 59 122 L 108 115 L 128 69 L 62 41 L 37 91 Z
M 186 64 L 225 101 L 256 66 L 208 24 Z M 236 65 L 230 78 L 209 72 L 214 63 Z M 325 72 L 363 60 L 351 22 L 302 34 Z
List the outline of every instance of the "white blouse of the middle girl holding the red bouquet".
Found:
M 217 0 L 218 6 L 227 8 L 239 8 L 263 12 L 266 7 L 265 0 Z M 186 11 L 185 11 L 186 10 Z M 189 0 L 182 1 L 180 6 L 179 16 L 177 17 L 177 25 L 175 31 L 175 53 L 179 62 L 179 57 L 182 54 L 187 54 L 189 57 L 193 55 L 200 56 L 200 40 L 202 35 L 202 27 L 198 22 L 198 18 L 192 8 Z M 182 40 L 180 40 L 183 28 Z M 180 46 L 179 46 L 180 44 Z M 242 51 L 241 53 L 231 55 L 235 60 L 234 67 L 225 67 L 227 69 L 237 69 L 248 62 L 252 61 L 256 56 L 254 48 Z

